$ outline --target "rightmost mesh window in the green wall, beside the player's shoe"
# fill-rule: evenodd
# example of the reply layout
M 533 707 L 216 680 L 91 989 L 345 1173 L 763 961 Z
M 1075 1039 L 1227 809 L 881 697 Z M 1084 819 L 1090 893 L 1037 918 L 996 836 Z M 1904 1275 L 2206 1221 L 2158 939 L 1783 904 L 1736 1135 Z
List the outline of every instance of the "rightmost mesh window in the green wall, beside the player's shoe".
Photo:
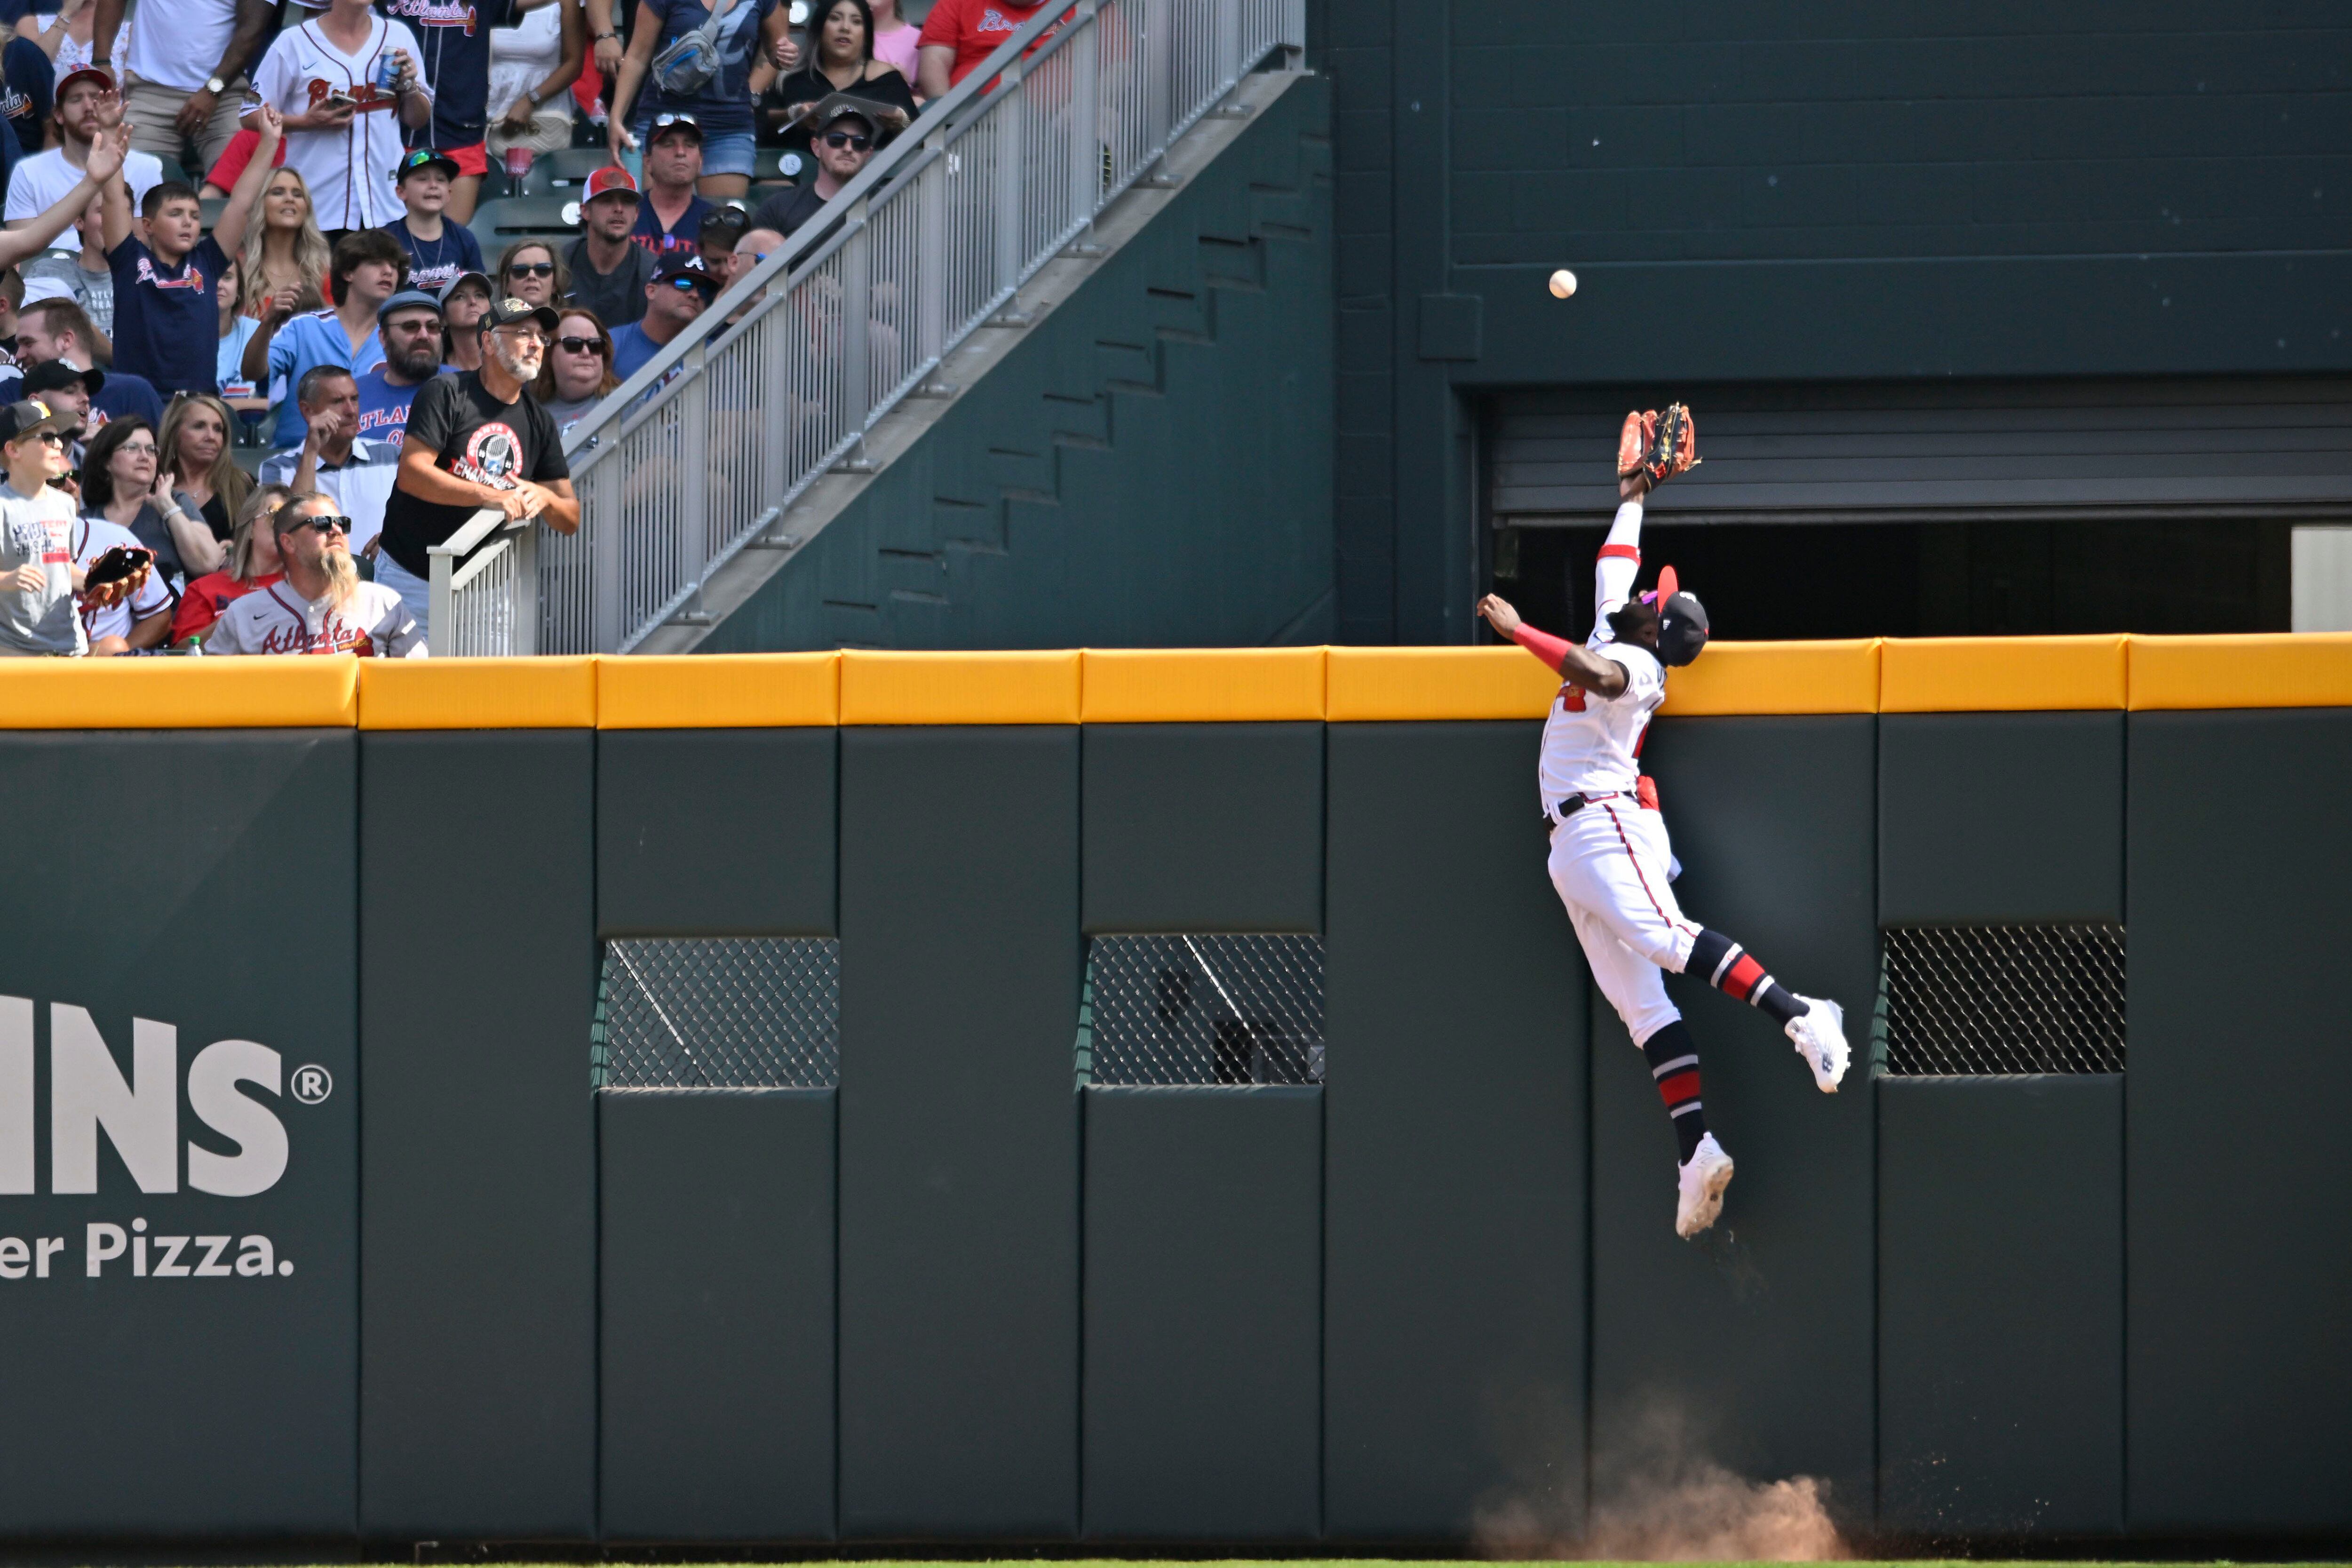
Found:
M 2122 1072 L 2122 926 L 1893 926 L 1877 1044 L 1891 1074 Z

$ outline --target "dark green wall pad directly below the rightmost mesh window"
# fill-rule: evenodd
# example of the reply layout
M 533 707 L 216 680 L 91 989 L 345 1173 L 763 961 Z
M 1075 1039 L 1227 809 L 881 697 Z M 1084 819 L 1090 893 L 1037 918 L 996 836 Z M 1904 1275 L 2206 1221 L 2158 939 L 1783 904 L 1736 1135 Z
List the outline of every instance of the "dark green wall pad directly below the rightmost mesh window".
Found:
M 1879 1526 L 2124 1528 L 2124 1079 L 1879 1081 Z

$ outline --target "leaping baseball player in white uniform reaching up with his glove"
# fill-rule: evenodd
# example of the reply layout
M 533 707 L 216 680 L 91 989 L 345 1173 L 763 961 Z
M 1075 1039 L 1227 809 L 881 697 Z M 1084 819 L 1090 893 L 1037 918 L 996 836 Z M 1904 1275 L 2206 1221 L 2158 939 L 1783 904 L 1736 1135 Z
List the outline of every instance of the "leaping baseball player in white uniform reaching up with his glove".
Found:
M 1675 569 L 1656 592 L 1635 597 L 1642 569 L 1642 496 L 1698 461 L 1691 411 L 1628 414 L 1618 437 L 1618 512 L 1592 569 L 1597 614 L 1585 646 L 1519 621 L 1486 595 L 1477 611 L 1503 637 L 1559 672 L 1559 696 L 1543 722 L 1543 825 L 1548 870 L 1592 964 L 1592 980 L 1649 1058 L 1651 1079 L 1682 1145 L 1675 1234 L 1715 1225 L 1731 1185 L 1731 1157 L 1698 1105 L 1698 1046 L 1665 999 L 1661 969 L 1705 976 L 1717 990 L 1766 1011 L 1797 1044 L 1823 1093 L 1846 1077 L 1846 1016 L 1835 1001 L 1799 997 L 1771 978 L 1736 940 L 1684 919 L 1668 879 L 1679 875 L 1658 792 L 1642 778 L 1642 741 L 1665 701 L 1668 665 L 1708 646 L 1708 611 L 1682 592 Z

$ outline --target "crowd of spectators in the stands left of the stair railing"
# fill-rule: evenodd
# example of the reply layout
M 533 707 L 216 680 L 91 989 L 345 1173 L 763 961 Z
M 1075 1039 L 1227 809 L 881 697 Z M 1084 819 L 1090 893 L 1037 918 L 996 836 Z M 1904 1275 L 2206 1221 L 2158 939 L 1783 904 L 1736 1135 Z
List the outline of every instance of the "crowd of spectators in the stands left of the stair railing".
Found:
M 0 654 L 421 654 L 428 550 L 576 529 L 564 433 L 1037 9 L 0 0 Z

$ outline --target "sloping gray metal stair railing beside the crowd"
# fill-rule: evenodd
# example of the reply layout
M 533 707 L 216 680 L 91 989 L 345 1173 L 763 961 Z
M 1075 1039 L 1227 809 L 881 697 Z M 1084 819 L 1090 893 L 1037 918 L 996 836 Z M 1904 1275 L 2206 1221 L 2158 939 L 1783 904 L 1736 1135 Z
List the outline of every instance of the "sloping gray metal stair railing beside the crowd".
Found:
M 1303 21 L 1303 0 L 1040 12 L 572 428 L 579 534 L 452 552 L 449 651 L 626 654 L 701 618 L 720 564 L 863 470 L 873 423 L 971 331 L 1018 324 L 1021 284 L 1270 52 L 1296 61 Z M 440 574 L 433 618 L 440 654 Z

